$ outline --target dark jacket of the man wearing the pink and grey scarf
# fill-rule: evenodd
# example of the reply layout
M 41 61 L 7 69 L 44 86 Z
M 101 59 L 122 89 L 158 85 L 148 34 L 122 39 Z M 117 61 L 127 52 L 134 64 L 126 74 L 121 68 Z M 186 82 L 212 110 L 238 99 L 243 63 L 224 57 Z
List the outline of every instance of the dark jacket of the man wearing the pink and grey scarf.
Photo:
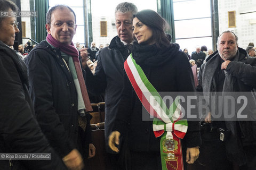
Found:
M 78 132 L 82 132 L 78 128 L 73 78 L 62 60 L 60 49 L 52 48 L 45 40 L 31 50 L 25 62 L 37 121 L 53 148 L 61 157 L 66 156 L 78 148 Z M 87 114 L 86 141 L 91 136 L 89 122 L 90 114 Z

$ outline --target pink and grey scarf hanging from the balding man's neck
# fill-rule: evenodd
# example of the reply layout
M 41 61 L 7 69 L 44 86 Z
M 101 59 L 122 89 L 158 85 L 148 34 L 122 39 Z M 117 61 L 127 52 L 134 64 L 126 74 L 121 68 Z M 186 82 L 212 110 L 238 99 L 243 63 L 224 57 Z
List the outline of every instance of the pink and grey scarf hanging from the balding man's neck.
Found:
M 75 64 L 75 68 L 76 68 L 77 79 L 79 81 L 79 85 L 80 85 L 83 100 L 84 100 L 85 112 L 91 112 L 92 111 L 92 106 L 91 106 L 91 103 L 90 103 L 90 99 L 88 97 L 88 93 L 87 93 L 87 89 L 86 89 L 86 86 L 85 86 L 81 65 L 80 65 L 80 62 L 79 62 L 79 59 L 78 59 L 79 54 L 78 54 L 78 51 L 75 48 L 73 42 L 71 42 L 70 45 L 60 43 L 60 41 L 57 41 L 56 39 L 54 39 L 52 37 L 52 35 L 50 35 L 50 34 L 47 35 L 46 40 L 53 47 L 60 48 L 60 50 L 63 53 L 66 53 L 66 54 L 72 56 L 74 64 Z

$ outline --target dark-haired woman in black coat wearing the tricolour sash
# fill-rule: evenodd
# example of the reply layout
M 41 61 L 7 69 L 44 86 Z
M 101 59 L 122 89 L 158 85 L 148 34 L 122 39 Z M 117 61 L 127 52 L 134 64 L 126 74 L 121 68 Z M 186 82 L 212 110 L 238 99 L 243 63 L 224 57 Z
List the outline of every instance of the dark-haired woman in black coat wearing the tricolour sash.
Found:
M 155 11 L 138 12 L 132 25 L 136 39 L 109 146 L 119 152 L 125 138 L 130 169 L 186 169 L 199 156 L 199 124 L 180 117 L 178 97 L 167 108 L 158 92 L 195 91 L 188 58 L 170 43 L 169 25 Z

